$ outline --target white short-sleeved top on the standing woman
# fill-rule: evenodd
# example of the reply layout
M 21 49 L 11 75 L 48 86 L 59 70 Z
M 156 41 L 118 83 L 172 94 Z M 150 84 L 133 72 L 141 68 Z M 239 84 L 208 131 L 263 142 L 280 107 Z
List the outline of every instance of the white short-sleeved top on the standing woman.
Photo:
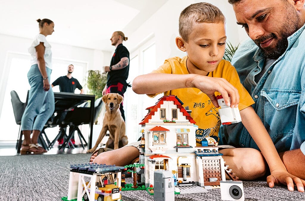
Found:
M 52 69 L 52 51 L 51 51 L 51 45 L 48 43 L 47 39 L 45 38 L 45 35 L 38 34 L 32 43 L 32 45 L 29 47 L 28 51 L 31 54 L 31 66 L 34 64 L 38 64 L 37 56 L 36 56 L 36 49 L 35 47 L 40 44 L 40 42 L 43 42 L 43 45 L 45 46 L 45 66 L 49 69 Z

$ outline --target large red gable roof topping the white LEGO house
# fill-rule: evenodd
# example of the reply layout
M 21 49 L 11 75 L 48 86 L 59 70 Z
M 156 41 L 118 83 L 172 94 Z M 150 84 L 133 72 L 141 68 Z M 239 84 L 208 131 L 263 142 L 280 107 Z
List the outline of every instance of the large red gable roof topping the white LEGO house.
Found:
M 176 99 L 174 95 L 169 96 L 163 96 L 161 97 L 156 105 L 148 107 L 147 109 L 151 109 L 150 113 L 148 113 L 143 120 L 139 124 L 145 124 L 148 123 L 148 120 L 152 118 L 153 115 L 155 115 L 155 112 L 158 111 L 158 108 L 161 107 L 164 101 L 174 101 L 174 104 L 177 106 L 177 108 L 180 109 L 180 112 L 183 113 L 183 115 L 186 117 L 187 120 L 190 121 L 190 123 L 196 124 L 196 122 L 193 120 L 193 118 L 189 115 L 189 113 L 184 109 L 184 107 L 181 105 L 181 103 Z

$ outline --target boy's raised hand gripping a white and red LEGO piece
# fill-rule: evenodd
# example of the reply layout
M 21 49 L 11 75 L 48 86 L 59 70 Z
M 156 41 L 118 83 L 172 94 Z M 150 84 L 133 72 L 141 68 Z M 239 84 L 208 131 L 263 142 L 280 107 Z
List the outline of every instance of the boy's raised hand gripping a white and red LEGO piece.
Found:
M 239 93 L 237 89 L 224 78 L 198 75 L 191 82 L 193 87 L 200 89 L 209 96 L 215 107 L 219 107 L 219 105 L 214 92 L 221 93 L 226 105 L 231 108 L 237 107 L 239 104 Z

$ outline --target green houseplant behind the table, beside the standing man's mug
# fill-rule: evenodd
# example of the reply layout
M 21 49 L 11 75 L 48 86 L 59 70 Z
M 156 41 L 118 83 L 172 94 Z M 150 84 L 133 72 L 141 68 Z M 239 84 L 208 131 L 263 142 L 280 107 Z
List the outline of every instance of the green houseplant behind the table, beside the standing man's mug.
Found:
M 102 74 L 99 70 L 88 70 L 86 79 L 89 94 L 95 95 L 95 100 L 102 97 L 102 91 L 107 83 L 107 74 Z

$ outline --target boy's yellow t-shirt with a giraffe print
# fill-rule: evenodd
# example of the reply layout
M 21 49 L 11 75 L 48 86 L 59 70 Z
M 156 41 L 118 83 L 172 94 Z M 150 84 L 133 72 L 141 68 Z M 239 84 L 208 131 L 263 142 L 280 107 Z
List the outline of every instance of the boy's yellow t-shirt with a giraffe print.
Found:
M 186 67 L 187 56 L 182 59 L 179 57 L 172 57 L 165 60 L 164 64 L 157 70 L 151 73 L 168 73 L 168 74 L 189 74 Z M 240 83 L 237 71 L 230 62 L 221 60 L 216 69 L 210 72 L 209 77 L 222 77 L 237 88 L 240 96 L 239 110 L 254 104 L 253 99 L 248 91 Z M 201 146 L 203 137 L 210 136 L 218 142 L 218 131 L 221 125 L 218 109 L 213 105 L 210 98 L 197 88 L 181 88 L 171 91 L 163 92 L 164 95 L 176 95 L 184 104 L 183 107 L 188 106 L 192 110 L 191 117 L 195 120 L 199 129 L 196 131 L 197 146 Z M 154 97 L 157 94 L 149 94 Z M 220 93 L 215 92 L 215 95 Z

